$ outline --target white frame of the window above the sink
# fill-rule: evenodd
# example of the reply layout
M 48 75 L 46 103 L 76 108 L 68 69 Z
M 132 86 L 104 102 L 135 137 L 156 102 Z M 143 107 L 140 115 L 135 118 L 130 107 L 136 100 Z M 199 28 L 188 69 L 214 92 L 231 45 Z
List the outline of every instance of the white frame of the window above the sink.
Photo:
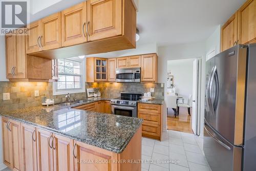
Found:
M 73 94 L 73 93 L 85 93 L 86 92 L 86 63 L 84 61 L 74 60 L 73 61 L 81 62 L 81 88 L 80 89 L 61 89 L 58 90 L 58 82 L 53 82 L 53 95 L 63 95 L 63 94 Z

